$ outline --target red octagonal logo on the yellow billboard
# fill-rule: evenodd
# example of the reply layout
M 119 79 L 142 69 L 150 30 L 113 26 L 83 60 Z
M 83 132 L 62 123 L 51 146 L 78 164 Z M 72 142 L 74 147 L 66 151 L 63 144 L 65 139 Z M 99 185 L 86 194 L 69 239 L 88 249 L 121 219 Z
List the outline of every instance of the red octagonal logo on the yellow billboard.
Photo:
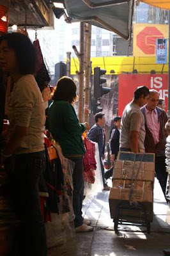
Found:
M 155 27 L 146 27 L 137 35 L 137 46 L 145 54 L 155 54 L 156 40 L 164 35 Z

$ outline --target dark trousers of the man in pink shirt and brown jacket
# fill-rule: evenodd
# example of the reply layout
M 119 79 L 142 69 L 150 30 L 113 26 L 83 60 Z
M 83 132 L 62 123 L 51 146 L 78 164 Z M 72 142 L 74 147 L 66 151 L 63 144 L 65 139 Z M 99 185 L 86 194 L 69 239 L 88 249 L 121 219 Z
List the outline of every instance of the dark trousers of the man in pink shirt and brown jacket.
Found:
M 167 172 L 166 172 L 166 157 L 156 156 L 155 157 L 155 172 L 157 179 L 160 183 L 164 195 L 166 195 L 166 183 L 167 183 Z

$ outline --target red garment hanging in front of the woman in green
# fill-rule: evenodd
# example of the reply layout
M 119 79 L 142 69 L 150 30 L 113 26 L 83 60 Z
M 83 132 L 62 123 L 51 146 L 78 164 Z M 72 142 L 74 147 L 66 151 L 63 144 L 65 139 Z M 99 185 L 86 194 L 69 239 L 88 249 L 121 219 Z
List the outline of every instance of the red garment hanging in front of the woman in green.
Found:
M 89 183 L 95 182 L 95 170 L 97 169 L 97 162 L 95 160 L 95 144 L 84 138 L 84 147 L 86 154 L 84 155 L 84 180 Z

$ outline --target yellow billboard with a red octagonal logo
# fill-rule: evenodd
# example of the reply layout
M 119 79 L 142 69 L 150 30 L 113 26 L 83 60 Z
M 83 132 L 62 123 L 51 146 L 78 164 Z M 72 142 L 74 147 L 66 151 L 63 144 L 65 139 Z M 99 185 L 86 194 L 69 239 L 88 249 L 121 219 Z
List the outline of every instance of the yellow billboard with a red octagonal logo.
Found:
M 158 38 L 168 38 L 168 25 L 134 24 L 134 56 L 156 56 Z

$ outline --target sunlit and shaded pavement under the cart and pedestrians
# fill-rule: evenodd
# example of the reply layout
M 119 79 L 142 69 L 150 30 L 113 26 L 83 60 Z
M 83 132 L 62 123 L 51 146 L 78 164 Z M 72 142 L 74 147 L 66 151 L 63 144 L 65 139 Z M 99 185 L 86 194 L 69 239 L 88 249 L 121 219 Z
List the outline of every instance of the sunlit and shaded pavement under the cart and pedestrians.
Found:
M 121 225 L 116 234 L 108 198 L 109 191 L 103 191 L 83 205 L 84 217 L 91 220 L 93 232 L 75 234 L 61 246 L 50 248 L 48 256 L 161 256 L 164 248 L 170 248 L 169 207 L 157 179 L 150 234 L 142 232 L 143 228 Z

